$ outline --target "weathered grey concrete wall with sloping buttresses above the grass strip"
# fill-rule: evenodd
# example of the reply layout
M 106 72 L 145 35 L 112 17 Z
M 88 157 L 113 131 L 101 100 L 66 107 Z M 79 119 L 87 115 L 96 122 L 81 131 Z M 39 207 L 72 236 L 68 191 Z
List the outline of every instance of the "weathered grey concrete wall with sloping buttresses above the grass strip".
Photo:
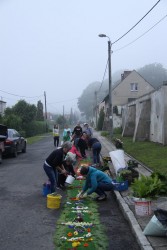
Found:
M 167 145 L 167 86 L 123 106 L 123 136 Z

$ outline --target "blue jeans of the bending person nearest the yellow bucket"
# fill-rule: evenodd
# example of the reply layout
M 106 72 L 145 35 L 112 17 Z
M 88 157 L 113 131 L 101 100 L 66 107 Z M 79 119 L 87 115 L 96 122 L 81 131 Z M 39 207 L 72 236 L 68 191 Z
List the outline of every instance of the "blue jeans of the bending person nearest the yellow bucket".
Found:
M 44 163 L 43 165 L 44 171 L 49 178 L 51 193 L 55 192 L 55 186 L 58 185 L 58 172 L 54 170 L 52 167 L 49 167 Z

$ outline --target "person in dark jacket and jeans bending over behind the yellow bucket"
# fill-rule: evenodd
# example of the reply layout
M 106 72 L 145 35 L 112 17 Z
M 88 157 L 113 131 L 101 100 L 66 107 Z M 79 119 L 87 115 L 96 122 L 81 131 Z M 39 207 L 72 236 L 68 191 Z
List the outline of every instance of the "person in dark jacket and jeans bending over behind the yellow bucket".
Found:
M 58 174 L 67 175 L 67 171 L 62 163 L 71 147 L 71 142 L 65 142 L 61 148 L 54 150 L 44 162 L 43 168 L 51 184 L 51 193 L 55 192 L 55 185 L 59 186 Z

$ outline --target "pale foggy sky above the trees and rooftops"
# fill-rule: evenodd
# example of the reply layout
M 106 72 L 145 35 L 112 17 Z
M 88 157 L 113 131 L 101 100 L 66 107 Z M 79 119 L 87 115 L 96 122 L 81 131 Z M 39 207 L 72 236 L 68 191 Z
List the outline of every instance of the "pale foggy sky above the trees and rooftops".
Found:
M 76 109 L 77 98 L 103 79 L 108 51 L 157 0 L 0 0 L 0 96 L 12 106 L 20 99 L 47 111 Z M 125 37 L 112 45 L 112 73 L 150 63 L 167 68 L 167 14 L 160 3 Z M 120 49 L 120 50 L 119 50 Z M 108 78 L 106 72 L 105 79 Z

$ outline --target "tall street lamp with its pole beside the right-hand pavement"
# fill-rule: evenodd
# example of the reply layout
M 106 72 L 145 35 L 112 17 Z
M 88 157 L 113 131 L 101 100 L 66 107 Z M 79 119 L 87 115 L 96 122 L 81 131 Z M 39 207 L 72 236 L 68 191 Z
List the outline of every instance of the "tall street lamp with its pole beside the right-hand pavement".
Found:
M 105 34 L 99 34 L 99 37 L 107 37 L 108 40 L 108 83 L 109 83 L 109 132 L 110 139 L 113 136 L 113 109 L 112 109 L 112 78 L 111 78 L 111 40 L 109 36 Z

